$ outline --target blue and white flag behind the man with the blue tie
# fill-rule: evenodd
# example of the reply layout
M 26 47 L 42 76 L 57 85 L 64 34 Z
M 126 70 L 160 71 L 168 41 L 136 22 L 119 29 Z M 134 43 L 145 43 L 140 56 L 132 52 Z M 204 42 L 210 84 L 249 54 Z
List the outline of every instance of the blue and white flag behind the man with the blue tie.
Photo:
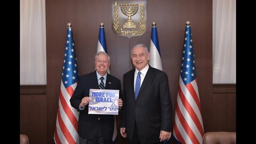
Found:
M 149 52 L 150 52 L 149 65 L 153 68 L 163 70 L 155 22 L 152 22 Z

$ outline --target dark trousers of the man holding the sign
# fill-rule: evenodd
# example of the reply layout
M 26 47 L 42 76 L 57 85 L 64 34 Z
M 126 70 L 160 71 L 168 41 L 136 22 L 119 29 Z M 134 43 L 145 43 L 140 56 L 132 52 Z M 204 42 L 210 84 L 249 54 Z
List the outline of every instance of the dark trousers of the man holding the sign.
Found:
M 94 139 L 84 139 L 83 137 L 79 137 L 79 144 L 111 144 L 111 142 L 112 140 L 103 139 L 100 126 Z

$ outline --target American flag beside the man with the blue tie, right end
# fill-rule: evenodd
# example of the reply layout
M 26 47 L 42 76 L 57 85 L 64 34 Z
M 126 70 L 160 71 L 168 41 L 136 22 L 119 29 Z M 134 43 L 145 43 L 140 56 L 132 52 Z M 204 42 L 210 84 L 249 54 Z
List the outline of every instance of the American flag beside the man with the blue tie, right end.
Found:
M 190 23 L 186 22 L 173 135 L 178 143 L 202 143 L 204 135 Z

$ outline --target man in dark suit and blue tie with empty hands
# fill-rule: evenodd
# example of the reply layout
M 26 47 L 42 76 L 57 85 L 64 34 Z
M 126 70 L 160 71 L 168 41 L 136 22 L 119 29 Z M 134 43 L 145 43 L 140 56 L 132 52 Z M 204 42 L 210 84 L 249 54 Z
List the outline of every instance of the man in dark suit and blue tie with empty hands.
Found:
M 129 143 L 163 143 L 170 139 L 172 103 L 166 73 L 148 65 L 145 45 L 132 47 L 135 66 L 123 76 L 121 135 Z

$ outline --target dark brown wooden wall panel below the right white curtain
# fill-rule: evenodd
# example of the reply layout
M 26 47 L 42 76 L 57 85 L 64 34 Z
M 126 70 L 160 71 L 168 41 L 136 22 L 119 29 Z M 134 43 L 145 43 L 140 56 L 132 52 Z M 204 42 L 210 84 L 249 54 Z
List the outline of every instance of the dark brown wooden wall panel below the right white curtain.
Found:
M 236 132 L 236 85 L 213 85 L 211 131 Z

